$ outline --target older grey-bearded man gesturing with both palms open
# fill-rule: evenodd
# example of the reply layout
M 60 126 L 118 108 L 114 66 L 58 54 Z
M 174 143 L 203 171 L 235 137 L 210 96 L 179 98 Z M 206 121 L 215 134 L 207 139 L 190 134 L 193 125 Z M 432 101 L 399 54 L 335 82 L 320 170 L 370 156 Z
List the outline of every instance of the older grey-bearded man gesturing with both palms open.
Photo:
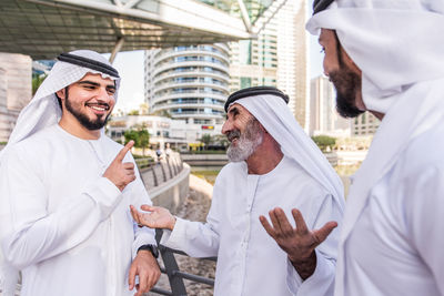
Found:
M 343 188 L 287 100 L 268 86 L 228 99 L 222 133 L 231 142 L 230 163 L 218 175 L 205 224 L 174 218 L 161 207 L 142 206 L 151 214 L 132 208 L 138 223 L 167 228 L 161 244 L 194 257 L 218 256 L 214 295 L 292 295 L 287 278 L 297 295 L 333 293 L 339 234 L 333 228 L 342 218 Z M 296 221 L 282 225 L 301 238 L 292 257 L 261 225 L 272 208 L 273 225 L 285 215 Z

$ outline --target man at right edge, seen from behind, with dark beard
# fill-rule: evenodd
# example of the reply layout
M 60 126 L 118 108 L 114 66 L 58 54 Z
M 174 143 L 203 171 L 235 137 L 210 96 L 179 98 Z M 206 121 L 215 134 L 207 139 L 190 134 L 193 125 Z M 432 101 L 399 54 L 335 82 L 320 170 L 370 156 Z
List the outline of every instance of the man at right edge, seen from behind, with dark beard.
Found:
M 335 295 L 444 295 L 444 2 L 316 0 L 306 27 L 340 113 L 382 120 L 352 180 Z

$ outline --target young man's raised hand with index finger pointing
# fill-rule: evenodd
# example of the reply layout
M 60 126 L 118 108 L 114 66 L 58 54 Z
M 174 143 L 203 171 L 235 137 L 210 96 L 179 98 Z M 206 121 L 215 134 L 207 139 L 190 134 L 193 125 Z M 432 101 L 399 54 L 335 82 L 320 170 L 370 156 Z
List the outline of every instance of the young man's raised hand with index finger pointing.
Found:
M 103 176 L 114 183 L 120 191 L 123 191 L 128 184 L 135 180 L 134 164 L 132 162 L 122 163 L 124 156 L 133 145 L 134 141 L 128 142 L 103 173 Z

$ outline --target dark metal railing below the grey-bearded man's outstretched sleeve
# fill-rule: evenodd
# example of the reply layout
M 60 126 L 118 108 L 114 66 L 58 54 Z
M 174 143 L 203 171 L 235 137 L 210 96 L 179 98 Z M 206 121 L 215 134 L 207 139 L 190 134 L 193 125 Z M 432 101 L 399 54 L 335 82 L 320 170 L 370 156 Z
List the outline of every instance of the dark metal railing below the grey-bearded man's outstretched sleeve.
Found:
M 188 279 L 191 282 L 195 283 L 201 283 L 205 284 L 209 286 L 214 286 L 214 279 L 194 275 L 194 274 L 189 274 L 185 272 L 181 272 L 179 268 L 179 265 L 175 261 L 174 254 L 180 254 L 188 256 L 185 253 L 178 251 L 178 249 L 172 249 L 165 246 L 162 246 L 159 244 L 161 237 L 162 237 L 162 229 L 155 229 L 155 241 L 158 242 L 159 245 L 159 253 L 160 257 L 163 261 L 164 268 L 161 268 L 161 273 L 165 274 L 168 276 L 168 280 L 170 283 L 170 288 L 171 290 L 165 290 L 159 287 L 153 287 L 150 293 L 159 294 L 159 295 L 170 295 L 170 296 L 186 296 L 186 289 L 185 285 L 183 283 L 183 279 Z M 201 259 L 208 259 L 208 261 L 213 261 L 215 262 L 218 258 L 216 257 L 210 257 L 210 258 L 201 258 Z

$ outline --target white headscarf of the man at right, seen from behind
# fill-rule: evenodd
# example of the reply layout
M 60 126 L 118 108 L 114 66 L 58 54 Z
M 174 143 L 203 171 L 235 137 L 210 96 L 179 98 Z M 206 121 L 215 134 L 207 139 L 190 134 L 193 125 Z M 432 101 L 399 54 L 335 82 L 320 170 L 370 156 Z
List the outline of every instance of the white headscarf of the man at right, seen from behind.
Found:
M 444 122 L 444 2 L 436 0 L 336 0 L 306 29 L 336 31 L 362 70 L 367 110 L 385 116 L 353 177 L 340 245 L 343 246 L 372 187 L 416 136 Z M 344 283 L 344 248 L 336 275 Z

